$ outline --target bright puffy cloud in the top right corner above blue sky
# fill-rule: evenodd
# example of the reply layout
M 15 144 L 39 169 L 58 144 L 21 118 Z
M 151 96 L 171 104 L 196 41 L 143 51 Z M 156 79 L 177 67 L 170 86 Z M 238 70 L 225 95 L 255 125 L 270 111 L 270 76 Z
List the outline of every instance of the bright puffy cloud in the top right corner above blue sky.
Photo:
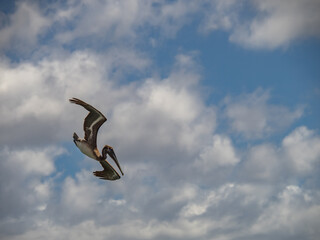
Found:
M 231 42 L 247 48 L 274 49 L 297 39 L 320 36 L 317 0 L 214 0 L 208 5 L 200 30 L 225 30 Z

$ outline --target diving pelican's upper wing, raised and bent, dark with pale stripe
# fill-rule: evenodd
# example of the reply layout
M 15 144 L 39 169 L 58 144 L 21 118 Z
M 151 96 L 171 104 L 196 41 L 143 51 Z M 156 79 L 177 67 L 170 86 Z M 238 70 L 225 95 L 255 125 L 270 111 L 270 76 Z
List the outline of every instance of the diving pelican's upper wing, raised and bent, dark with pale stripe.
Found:
M 107 118 L 97 109 L 92 107 L 90 104 L 78 99 L 69 99 L 71 103 L 81 105 L 89 111 L 89 114 L 84 119 L 83 131 L 84 139 L 92 146 L 97 147 L 97 133 L 101 125 L 107 121 Z

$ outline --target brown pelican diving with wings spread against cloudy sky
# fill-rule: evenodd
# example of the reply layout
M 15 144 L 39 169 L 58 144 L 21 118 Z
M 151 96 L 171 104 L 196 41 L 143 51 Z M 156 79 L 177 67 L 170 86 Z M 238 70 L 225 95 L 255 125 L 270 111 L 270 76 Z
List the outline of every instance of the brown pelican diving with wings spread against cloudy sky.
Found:
M 105 145 L 102 149 L 102 155 L 100 154 L 97 148 L 97 134 L 101 125 L 107 121 L 107 118 L 97 109 L 92 107 L 90 104 L 85 103 L 77 98 L 69 99 L 71 103 L 75 103 L 81 105 L 85 109 L 89 111 L 89 114 L 84 119 L 83 130 L 84 130 L 84 139 L 79 138 L 76 133 L 73 134 L 73 141 L 76 146 L 80 149 L 80 151 L 94 160 L 100 162 L 103 167 L 103 171 L 96 171 L 93 174 L 100 179 L 104 180 L 116 180 L 120 178 L 118 172 L 110 165 L 107 161 L 107 154 L 114 160 L 120 169 L 121 174 L 123 172 L 121 170 L 120 164 L 116 157 L 116 154 L 113 151 L 113 148 Z

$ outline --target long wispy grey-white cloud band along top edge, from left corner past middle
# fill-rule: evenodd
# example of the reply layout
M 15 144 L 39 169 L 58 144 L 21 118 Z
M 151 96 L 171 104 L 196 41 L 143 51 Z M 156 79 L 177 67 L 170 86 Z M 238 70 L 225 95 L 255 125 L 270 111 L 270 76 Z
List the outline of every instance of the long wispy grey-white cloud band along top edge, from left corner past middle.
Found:
M 172 37 L 198 10 L 191 1 L 64 1 L 40 8 L 37 2 L 20 1 L 13 13 L 1 15 L 0 49 L 34 53 L 44 38 L 50 45 L 70 46 L 135 42 L 139 32 L 156 28 L 166 37 Z

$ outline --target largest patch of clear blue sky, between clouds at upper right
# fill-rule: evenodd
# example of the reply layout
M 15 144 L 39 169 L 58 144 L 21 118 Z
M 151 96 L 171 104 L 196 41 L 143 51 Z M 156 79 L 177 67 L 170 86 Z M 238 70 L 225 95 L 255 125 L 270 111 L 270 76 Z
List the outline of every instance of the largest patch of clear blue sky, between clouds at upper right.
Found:
M 164 76 L 178 53 L 198 52 L 204 75 L 201 83 L 212 89 L 212 103 L 221 101 L 228 94 L 250 93 L 262 87 L 272 91 L 270 101 L 294 107 L 297 102 L 310 98 L 310 90 L 319 87 L 320 72 L 316 63 L 320 51 L 316 41 L 277 51 L 248 51 L 231 43 L 224 31 L 204 35 L 197 32 L 197 27 L 195 22 L 189 24 L 175 39 L 166 39 L 165 43 L 155 31 L 150 40 L 159 44 L 142 50 L 151 53 Z

